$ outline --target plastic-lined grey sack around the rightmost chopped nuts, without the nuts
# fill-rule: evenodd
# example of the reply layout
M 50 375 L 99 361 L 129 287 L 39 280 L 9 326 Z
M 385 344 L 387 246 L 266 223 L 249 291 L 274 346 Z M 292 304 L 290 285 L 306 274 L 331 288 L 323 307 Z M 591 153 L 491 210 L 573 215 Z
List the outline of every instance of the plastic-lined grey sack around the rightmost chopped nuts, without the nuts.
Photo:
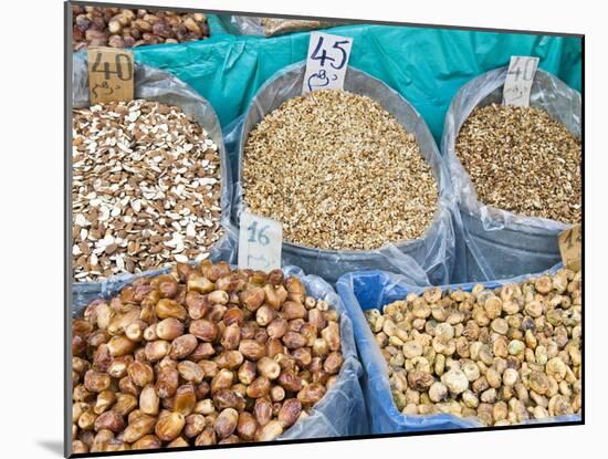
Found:
M 502 103 L 507 70 L 496 69 L 467 83 L 445 115 L 441 149 L 461 210 L 462 225 L 457 226 L 468 249 L 465 279 L 457 281 L 502 279 L 548 269 L 559 261 L 557 234 L 568 228 L 558 221 L 485 206 L 455 154 L 458 134 L 473 108 Z M 546 111 L 580 138 L 580 93 L 556 76 L 536 72 L 530 105 Z

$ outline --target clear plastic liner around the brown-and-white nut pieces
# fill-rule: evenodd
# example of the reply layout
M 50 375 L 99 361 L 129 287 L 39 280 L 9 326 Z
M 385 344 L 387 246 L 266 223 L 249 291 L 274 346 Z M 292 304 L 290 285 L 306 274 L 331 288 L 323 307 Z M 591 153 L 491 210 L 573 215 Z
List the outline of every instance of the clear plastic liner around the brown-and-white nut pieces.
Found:
M 88 101 L 88 66 L 86 54 L 75 54 L 72 69 L 72 105 L 74 108 L 90 105 Z M 135 98 L 158 101 L 169 105 L 180 106 L 184 112 L 195 119 L 208 133 L 210 138 L 218 145 L 221 165 L 221 225 L 224 228 L 230 221 L 231 202 L 231 170 L 230 161 L 227 160 L 226 147 L 223 145 L 222 131 L 216 112 L 209 102 L 199 96 L 191 87 L 158 69 L 135 63 Z M 211 249 L 211 260 L 230 259 L 234 244 L 228 236 L 223 236 Z M 70 274 L 71 275 L 71 274 Z M 128 279 L 128 275 L 125 277 Z M 72 286 L 73 304 L 88 303 L 88 301 L 103 294 L 103 282 L 74 283 Z

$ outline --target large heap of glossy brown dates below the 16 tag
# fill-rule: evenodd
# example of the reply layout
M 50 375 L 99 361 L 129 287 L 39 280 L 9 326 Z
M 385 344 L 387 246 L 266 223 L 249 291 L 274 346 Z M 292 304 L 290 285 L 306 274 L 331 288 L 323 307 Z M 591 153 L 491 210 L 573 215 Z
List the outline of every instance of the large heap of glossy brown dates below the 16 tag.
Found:
M 224 262 L 141 278 L 72 332 L 73 452 L 269 441 L 343 364 L 336 310 Z

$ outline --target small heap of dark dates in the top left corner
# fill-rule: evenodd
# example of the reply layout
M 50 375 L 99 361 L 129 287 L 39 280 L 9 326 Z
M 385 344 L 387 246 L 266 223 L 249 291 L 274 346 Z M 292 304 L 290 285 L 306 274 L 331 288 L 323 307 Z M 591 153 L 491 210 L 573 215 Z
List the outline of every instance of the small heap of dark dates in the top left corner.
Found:
M 181 43 L 209 36 L 203 13 L 73 6 L 72 18 L 74 51 Z

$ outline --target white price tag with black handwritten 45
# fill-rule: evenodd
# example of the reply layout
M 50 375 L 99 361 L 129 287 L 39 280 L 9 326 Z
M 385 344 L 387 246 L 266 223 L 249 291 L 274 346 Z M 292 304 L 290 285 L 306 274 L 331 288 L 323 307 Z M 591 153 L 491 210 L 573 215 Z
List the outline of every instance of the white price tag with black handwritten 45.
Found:
M 302 94 L 316 90 L 342 90 L 353 39 L 311 32 Z

